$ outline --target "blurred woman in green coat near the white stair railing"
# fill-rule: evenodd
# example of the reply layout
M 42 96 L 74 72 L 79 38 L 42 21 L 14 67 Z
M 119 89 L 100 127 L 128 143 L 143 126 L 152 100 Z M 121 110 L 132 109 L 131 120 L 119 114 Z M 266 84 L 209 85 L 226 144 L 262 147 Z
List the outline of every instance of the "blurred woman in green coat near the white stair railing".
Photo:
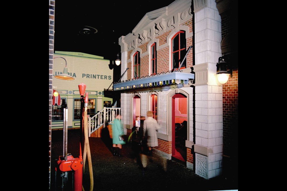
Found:
M 122 144 L 126 142 L 124 140 L 120 140 L 120 136 L 124 135 L 122 128 L 120 128 L 120 114 L 116 116 L 114 120 L 114 124 L 112 125 L 112 134 L 113 134 L 113 155 L 121 156 Z M 117 150 L 117 151 L 116 151 Z

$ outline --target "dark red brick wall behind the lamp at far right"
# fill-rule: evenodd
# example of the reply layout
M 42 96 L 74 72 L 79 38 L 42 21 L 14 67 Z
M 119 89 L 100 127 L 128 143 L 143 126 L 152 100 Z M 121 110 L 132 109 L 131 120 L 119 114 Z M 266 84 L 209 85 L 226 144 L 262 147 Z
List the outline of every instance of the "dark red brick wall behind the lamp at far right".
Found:
M 234 11 L 235 12 L 235 11 Z M 233 77 L 222 85 L 223 93 L 223 155 L 236 157 L 238 152 L 238 31 L 237 16 L 233 12 L 226 12 L 221 18 L 222 39 L 230 35 L 232 48 L 222 51 L 222 55 L 228 54 L 233 64 Z

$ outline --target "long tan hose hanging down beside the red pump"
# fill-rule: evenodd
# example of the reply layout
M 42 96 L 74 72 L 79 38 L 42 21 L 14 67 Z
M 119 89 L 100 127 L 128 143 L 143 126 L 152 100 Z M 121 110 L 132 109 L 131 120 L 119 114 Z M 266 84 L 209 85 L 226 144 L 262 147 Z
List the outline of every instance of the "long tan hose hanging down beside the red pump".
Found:
M 88 154 L 88 164 L 89 164 L 89 172 L 90 172 L 90 191 L 94 188 L 94 177 L 93 177 L 93 168 L 92 168 L 92 161 L 91 161 L 91 150 L 89 144 L 89 136 L 88 136 L 88 116 L 87 116 L 87 108 L 88 106 L 88 93 L 85 96 L 85 107 L 84 107 L 84 134 L 85 134 L 85 147 L 84 147 L 84 156 L 83 156 L 83 163 L 84 163 L 84 172 L 85 172 L 85 163 L 86 163 L 86 155 Z M 84 187 L 82 186 L 82 190 Z

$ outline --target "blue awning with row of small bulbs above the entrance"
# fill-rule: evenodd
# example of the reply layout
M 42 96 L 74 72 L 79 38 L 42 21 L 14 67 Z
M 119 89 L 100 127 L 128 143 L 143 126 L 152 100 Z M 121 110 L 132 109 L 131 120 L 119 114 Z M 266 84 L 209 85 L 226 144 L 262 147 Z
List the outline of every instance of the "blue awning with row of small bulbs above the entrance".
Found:
M 114 84 L 113 90 L 128 90 L 141 87 L 154 87 L 171 84 L 188 84 L 189 79 L 194 79 L 194 74 L 171 72 L 155 76 L 147 76 Z

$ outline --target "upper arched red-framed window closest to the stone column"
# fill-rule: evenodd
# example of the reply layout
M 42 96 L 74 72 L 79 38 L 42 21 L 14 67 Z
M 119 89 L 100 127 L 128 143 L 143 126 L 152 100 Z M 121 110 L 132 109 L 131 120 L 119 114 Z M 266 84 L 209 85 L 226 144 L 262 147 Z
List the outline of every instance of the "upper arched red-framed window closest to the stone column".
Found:
M 185 32 L 179 31 L 172 37 L 172 69 L 179 68 L 186 54 Z M 186 59 L 180 69 L 186 68 Z

